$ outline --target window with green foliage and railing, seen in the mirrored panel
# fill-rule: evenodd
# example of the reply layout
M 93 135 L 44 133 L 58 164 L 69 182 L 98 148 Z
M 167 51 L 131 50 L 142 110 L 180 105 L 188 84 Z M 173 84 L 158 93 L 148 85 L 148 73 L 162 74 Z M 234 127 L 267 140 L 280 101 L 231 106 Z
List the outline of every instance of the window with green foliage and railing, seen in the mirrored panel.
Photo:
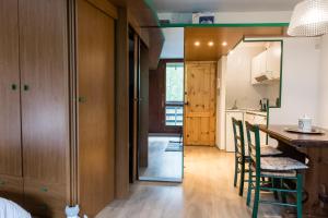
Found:
M 165 123 L 181 126 L 184 123 L 184 63 L 166 63 Z

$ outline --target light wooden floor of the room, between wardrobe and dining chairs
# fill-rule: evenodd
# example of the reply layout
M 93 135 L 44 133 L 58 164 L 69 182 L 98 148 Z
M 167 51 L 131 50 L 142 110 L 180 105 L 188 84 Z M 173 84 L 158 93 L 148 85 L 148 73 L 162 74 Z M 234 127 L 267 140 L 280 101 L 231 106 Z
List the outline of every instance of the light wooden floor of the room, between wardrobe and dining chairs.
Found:
M 233 186 L 233 154 L 214 147 L 186 147 L 185 156 L 183 184 L 136 183 L 129 199 L 115 201 L 97 218 L 250 217 L 246 198 Z M 279 211 L 279 207 L 261 205 L 258 217 L 280 217 Z

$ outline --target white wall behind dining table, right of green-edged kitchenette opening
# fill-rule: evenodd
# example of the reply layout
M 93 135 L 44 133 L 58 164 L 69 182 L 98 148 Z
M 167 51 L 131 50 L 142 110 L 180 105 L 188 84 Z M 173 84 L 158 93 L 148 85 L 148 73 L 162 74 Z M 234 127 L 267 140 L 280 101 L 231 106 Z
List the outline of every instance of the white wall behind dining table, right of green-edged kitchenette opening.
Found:
M 297 124 L 303 114 L 318 123 L 318 38 L 283 39 L 282 107 L 270 109 L 270 124 Z

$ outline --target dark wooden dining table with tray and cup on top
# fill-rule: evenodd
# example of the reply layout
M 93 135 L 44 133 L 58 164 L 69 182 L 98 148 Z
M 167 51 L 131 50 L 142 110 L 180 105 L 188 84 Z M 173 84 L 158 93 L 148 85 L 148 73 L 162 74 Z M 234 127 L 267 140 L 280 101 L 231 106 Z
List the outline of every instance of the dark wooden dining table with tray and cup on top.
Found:
M 304 171 L 304 217 L 328 217 L 328 130 L 314 126 L 316 134 L 289 132 L 295 125 L 259 125 L 278 141 L 278 149 L 308 166 Z

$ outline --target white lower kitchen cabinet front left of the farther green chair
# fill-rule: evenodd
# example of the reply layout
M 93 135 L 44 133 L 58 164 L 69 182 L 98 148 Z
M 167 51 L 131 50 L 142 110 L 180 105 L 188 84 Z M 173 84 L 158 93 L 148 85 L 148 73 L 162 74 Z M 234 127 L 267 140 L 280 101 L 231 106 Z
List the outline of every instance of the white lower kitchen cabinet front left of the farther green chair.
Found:
M 236 120 L 243 120 L 244 122 L 244 113 L 243 112 L 226 112 L 225 118 L 225 150 L 227 153 L 235 152 L 235 141 L 234 141 L 234 131 L 233 131 L 233 122 L 232 119 L 235 118 Z

